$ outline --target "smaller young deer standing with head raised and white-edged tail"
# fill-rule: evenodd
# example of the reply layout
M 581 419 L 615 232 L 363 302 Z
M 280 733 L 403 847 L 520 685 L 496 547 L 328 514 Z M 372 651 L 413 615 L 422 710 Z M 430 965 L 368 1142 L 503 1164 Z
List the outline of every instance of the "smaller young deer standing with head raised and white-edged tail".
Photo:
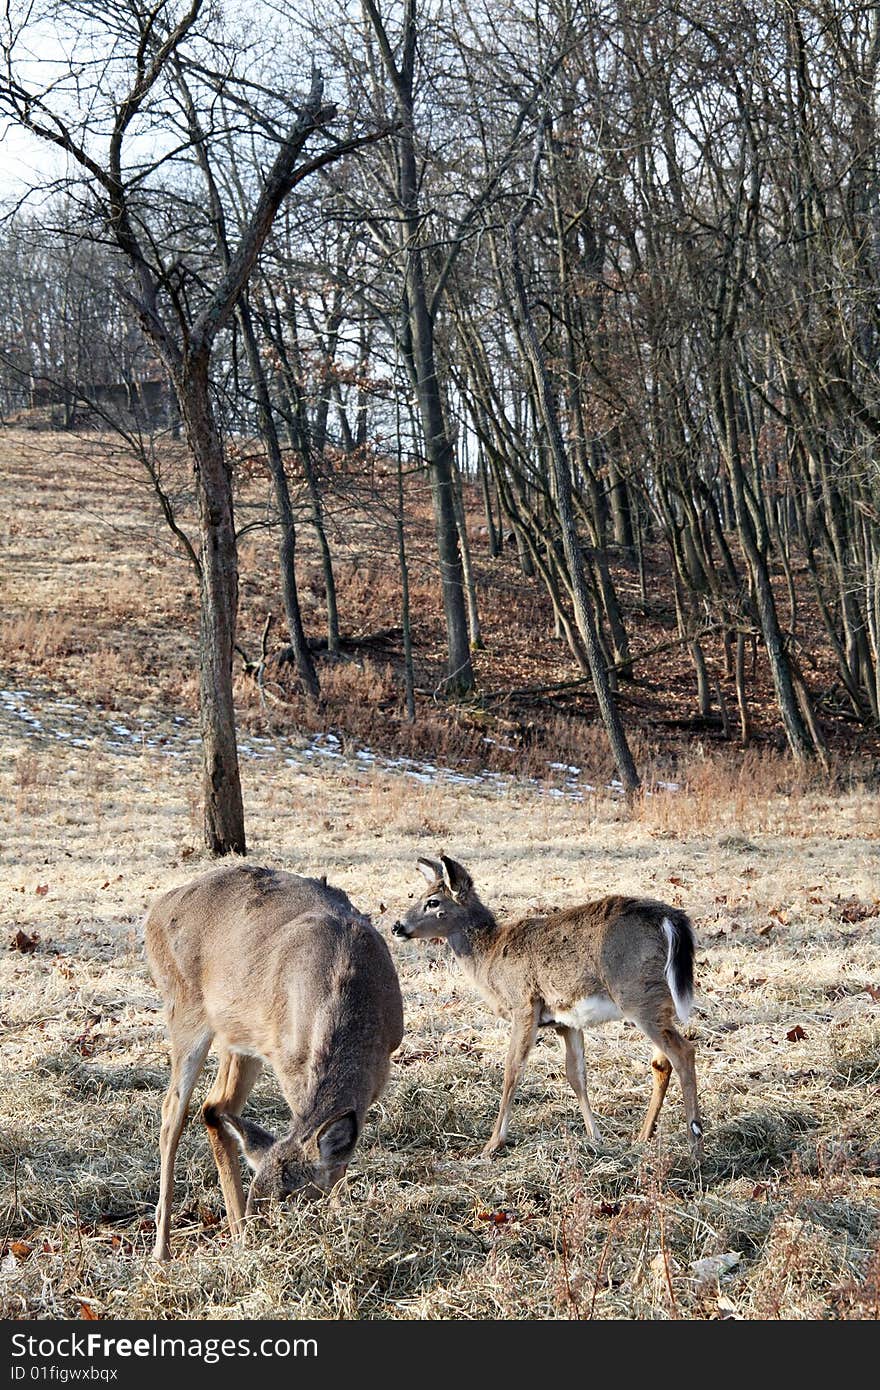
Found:
M 584 1033 L 612 1019 L 630 1019 L 653 1042 L 653 1091 L 639 1140 L 653 1134 L 673 1068 L 681 1083 L 688 1137 L 702 1158 L 694 1047 L 674 1026 L 694 998 L 694 933 L 684 912 L 644 898 L 601 898 L 546 916 L 499 926 L 474 892 L 467 869 L 441 855 L 420 859 L 430 888 L 396 937 L 442 937 L 491 1009 L 513 1024 L 500 1109 L 489 1155 L 507 1138 L 510 1104 L 538 1029 L 562 1036 L 566 1076 L 591 1138 L 599 1131 L 587 1095 Z M 671 1063 L 671 1065 L 670 1065 Z

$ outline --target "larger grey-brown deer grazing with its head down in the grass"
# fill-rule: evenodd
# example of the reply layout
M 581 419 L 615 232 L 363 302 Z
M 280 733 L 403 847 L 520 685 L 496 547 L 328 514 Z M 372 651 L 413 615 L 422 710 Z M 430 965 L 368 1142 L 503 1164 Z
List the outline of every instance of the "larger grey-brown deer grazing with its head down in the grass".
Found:
M 324 880 L 213 869 L 158 898 L 145 937 L 171 1040 L 154 1250 L 168 1259 L 174 1156 L 211 1041 L 220 1068 L 202 1116 L 229 1227 L 243 1236 L 259 1202 L 339 1182 L 388 1080 L 403 1004 L 385 941 Z M 293 1116 L 278 1140 L 241 1118 L 266 1062 Z M 254 1170 L 246 1207 L 239 1148 Z

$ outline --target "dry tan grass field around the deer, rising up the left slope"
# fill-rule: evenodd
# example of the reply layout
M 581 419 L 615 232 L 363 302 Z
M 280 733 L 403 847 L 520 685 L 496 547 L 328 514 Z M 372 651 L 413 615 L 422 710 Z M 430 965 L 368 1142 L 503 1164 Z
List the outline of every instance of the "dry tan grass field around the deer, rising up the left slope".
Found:
M 92 477 L 86 450 L 0 438 L 0 1312 L 877 1318 L 880 817 L 858 764 L 823 787 L 770 752 L 695 752 L 677 790 L 628 815 L 610 791 L 467 784 L 316 745 L 260 726 L 245 691 L 252 860 L 327 873 L 386 934 L 416 858 L 441 849 L 503 913 L 608 891 L 690 910 L 706 1162 L 698 1177 L 674 1080 L 658 1137 L 634 1143 L 649 1047 L 619 1023 L 587 1038 L 599 1144 L 546 1038 L 510 1147 L 480 1159 L 506 1027 L 445 948 L 393 941 L 406 1036 L 338 1194 L 278 1209 L 238 1248 L 190 1123 L 175 1258 L 152 1262 L 167 1044 L 140 924 L 206 866 L 192 587 L 146 502 Z M 250 1106 L 284 1125 L 271 1076 Z

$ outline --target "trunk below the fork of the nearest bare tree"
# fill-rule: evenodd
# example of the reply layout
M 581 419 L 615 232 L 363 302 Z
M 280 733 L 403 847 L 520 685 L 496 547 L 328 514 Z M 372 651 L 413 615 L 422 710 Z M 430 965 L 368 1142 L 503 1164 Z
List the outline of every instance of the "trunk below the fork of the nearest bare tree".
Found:
M 211 409 L 207 354 L 188 361 L 175 385 L 193 457 L 199 500 L 199 706 L 204 844 L 213 855 L 243 855 L 245 808 L 232 699 L 238 555 L 232 480 Z

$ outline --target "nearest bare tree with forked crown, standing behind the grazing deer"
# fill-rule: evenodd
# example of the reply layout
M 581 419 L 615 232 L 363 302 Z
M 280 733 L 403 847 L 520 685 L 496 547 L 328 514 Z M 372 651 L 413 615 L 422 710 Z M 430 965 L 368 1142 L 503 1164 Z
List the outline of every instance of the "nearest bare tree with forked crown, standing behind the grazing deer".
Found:
M 245 852 L 235 739 L 232 655 L 238 556 L 232 477 L 211 395 L 211 354 L 247 285 L 282 202 L 309 174 L 348 153 L 357 136 L 328 143 L 335 107 L 313 71 L 304 97 L 275 96 L 239 75 L 241 50 L 220 46 L 203 0 L 189 4 L 49 6 L 46 15 L 81 26 L 83 56 L 49 86 L 29 78 L 25 40 L 7 11 L 0 106 L 35 136 L 60 147 L 78 170 L 71 192 L 83 227 L 108 240 L 125 264 L 120 291 L 172 384 L 193 461 L 199 505 L 199 689 L 203 739 L 204 840 L 211 853 Z M 74 46 L 74 51 L 78 51 Z M 215 210 L 199 218 L 190 196 L 192 157 L 210 139 L 196 132 L 174 96 L 175 75 L 200 82 L 209 107 L 222 86 L 242 118 L 266 139 L 250 215 L 235 242 L 218 247 Z M 304 157 L 306 145 L 321 147 Z M 203 163 L 204 167 L 204 163 Z

